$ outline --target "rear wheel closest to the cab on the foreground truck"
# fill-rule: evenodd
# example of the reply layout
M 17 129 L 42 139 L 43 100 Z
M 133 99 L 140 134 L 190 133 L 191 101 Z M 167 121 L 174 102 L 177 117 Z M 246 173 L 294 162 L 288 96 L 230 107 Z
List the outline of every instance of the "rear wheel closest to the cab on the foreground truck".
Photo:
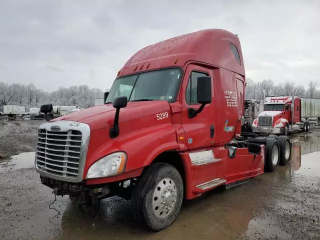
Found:
M 279 164 L 279 144 L 276 139 L 266 138 L 264 171 L 274 171 Z

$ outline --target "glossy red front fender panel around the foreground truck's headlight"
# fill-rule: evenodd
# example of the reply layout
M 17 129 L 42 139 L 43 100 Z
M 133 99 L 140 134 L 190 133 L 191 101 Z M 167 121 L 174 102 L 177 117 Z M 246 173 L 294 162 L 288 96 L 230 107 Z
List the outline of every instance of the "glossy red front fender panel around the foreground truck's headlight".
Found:
M 155 117 L 152 115 L 153 118 Z M 152 119 L 150 116 L 145 116 L 120 123 L 120 134 L 112 140 L 108 136 L 109 127 L 91 131 L 83 179 L 86 177 L 88 168 L 95 161 L 112 152 L 124 151 L 127 154 L 124 173 L 121 174 L 122 177 L 117 176 L 124 179 L 128 172 L 136 172 L 135 176 L 138 176 L 141 169 L 150 164 L 161 152 L 177 150 L 179 145 L 176 140 L 176 131 L 170 122 L 170 115 L 161 121 Z M 121 132 L 125 133 L 121 134 Z M 137 169 L 140 170 L 136 171 Z M 109 181 L 113 177 L 99 178 L 99 183 L 106 182 L 106 178 Z

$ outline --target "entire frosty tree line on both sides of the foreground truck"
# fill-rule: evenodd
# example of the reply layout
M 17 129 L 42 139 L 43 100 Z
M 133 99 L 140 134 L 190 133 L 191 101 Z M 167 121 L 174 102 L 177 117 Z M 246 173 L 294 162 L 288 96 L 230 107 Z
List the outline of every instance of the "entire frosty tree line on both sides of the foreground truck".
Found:
M 310 81 L 308 88 L 295 85 L 293 82 L 284 81 L 274 84 L 271 79 L 253 81 L 246 78 L 245 98 L 263 99 L 263 92 L 269 95 L 294 95 L 307 98 L 320 98 L 320 89 L 317 82 Z M 94 106 L 94 100 L 103 97 L 103 91 L 99 88 L 89 88 L 87 85 L 62 87 L 52 92 L 46 92 L 36 88 L 33 83 L 27 85 L 21 83 L 8 84 L 0 82 L 0 110 L 3 105 L 20 105 L 28 111 L 29 107 L 40 107 L 41 104 L 52 103 L 53 105 L 78 105 L 87 108 Z

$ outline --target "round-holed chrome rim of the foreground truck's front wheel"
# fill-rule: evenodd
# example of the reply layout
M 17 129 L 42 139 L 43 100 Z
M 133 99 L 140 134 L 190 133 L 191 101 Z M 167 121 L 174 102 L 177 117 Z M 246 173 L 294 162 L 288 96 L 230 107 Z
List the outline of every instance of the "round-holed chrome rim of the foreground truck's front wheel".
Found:
M 152 195 L 152 209 L 157 217 L 168 216 L 176 203 L 177 189 L 175 182 L 165 177 L 161 179 L 155 186 Z

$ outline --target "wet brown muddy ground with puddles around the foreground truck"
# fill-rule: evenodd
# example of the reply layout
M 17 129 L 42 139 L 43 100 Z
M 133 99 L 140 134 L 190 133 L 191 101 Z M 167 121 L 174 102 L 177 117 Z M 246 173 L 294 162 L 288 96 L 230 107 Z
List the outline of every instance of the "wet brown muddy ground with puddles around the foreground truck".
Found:
M 320 239 L 318 129 L 290 136 L 289 165 L 185 201 L 171 226 L 150 233 L 134 223 L 130 202 L 119 197 L 103 200 L 93 216 L 67 196 L 49 208 L 54 196 L 33 167 L 41 122 L 0 121 L 0 239 Z

